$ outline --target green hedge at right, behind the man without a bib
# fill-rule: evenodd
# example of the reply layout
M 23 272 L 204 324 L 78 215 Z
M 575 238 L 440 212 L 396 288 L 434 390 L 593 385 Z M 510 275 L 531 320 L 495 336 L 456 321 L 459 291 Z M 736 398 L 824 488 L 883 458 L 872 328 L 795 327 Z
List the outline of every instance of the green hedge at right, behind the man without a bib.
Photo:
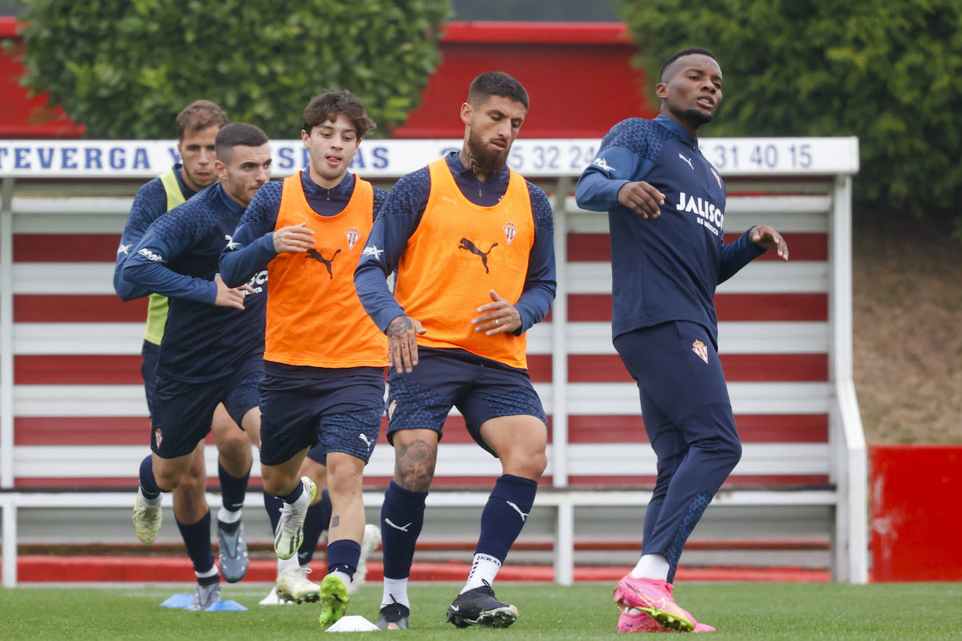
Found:
M 619 2 L 649 78 L 686 46 L 718 57 L 711 136 L 858 136 L 861 210 L 962 233 L 962 2 Z

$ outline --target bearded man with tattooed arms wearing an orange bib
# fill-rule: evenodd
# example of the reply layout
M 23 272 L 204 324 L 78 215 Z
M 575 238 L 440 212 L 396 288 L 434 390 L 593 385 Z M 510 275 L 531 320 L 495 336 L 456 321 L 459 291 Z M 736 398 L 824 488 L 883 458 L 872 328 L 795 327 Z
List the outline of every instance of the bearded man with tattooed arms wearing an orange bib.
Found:
M 528 376 L 524 333 L 547 314 L 555 291 L 551 207 L 544 191 L 505 164 L 527 111 L 527 91 L 508 74 L 474 79 L 461 106 L 464 147 L 394 185 L 355 273 L 358 296 L 390 348 L 388 438 L 396 464 L 381 509 L 382 629 L 408 624 L 407 581 L 451 407 L 501 460 L 503 474 L 447 620 L 504 628 L 518 618 L 517 607 L 494 598 L 491 583 L 547 464 L 546 419 Z

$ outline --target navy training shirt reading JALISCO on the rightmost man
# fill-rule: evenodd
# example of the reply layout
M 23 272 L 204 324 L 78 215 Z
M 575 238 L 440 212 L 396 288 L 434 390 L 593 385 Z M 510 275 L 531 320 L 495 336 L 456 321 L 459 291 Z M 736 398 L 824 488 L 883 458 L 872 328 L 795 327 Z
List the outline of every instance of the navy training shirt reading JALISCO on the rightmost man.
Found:
M 657 218 L 618 202 L 626 183 L 644 180 L 665 194 Z M 601 140 L 575 189 L 578 206 L 608 211 L 612 335 L 672 320 L 703 326 L 718 347 L 715 288 L 765 253 L 748 232 L 728 245 L 726 191 L 697 138 L 666 115 L 629 118 Z

